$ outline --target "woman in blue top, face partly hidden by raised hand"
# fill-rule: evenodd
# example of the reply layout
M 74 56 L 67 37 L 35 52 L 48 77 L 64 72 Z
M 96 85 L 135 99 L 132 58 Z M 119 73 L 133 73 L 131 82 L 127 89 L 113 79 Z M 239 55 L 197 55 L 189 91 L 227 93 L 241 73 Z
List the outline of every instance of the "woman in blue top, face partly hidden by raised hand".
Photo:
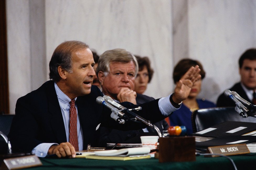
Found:
M 173 70 L 173 80 L 176 84 L 180 78 L 185 74 L 186 71 L 191 66 L 198 65 L 201 69 L 200 75 L 201 79 L 196 81 L 191 88 L 190 94 L 187 99 L 183 100 L 183 103 L 179 110 L 174 111 L 173 114 L 169 116 L 169 121 L 171 126 L 186 126 L 187 134 L 193 133 L 192 129 L 192 121 L 191 121 L 191 114 L 193 111 L 202 109 L 202 108 L 209 108 L 209 107 L 216 107 L 214 103 L 211 101 L 202 99 L 197 99 L 198 94 L 201 91 L 201 82 L 205 77 L 205 71 L 203 69 L 202 64 L 197 60 L 192 59 L 182 59 L 178 62 L 178 64 L 174 67 Z

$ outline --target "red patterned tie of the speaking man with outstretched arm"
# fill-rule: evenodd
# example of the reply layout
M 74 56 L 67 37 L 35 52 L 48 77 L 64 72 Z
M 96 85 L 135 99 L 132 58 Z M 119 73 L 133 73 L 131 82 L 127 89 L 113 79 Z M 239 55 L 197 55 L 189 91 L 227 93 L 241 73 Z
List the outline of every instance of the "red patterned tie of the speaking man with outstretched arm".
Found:
M 77 113 L 75 106 L 75 99 L 70 102 L 70 121 L 69 121 L 69 142 L 78 151 L 78 137 L 77 137 Z

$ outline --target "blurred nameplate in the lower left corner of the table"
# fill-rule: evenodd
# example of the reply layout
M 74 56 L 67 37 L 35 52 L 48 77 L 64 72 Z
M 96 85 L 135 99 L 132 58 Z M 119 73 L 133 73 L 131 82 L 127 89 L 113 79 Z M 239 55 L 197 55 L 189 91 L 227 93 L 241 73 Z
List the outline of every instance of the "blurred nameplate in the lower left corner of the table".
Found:
M 2 167 L 0 169 L 22 169 L 34 166 L 41 166 L 42 162 L 36 155 L 21 156 L 15 158 L 7 158 L 2 162 Z

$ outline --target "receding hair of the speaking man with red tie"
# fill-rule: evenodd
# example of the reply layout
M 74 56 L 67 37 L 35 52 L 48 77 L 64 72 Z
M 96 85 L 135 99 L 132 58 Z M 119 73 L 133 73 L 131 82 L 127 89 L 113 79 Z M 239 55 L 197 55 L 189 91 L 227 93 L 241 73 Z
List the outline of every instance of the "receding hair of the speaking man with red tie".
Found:
M 58 45 L 58 47 L 54 50 L 49 63 L 50 79 L 54 80 L 55 82 L 61 80 L 58 72 L 58 66 L 61 66 L 68 72 L 72 72 L 72 53 L 84 48 L 89 48 L 89 46 L 81 41 L 65 41 Z

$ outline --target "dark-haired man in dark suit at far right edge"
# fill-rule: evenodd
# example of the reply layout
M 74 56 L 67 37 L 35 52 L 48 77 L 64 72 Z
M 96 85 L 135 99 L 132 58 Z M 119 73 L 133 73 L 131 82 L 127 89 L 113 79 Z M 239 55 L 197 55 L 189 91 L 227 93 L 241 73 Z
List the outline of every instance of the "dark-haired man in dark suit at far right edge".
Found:
M 248 49 L 240 56 L 239 74 L 241 81 L 234 84 L 229 90 L 237 92 L 243 99 L 256 105 L 256 48 Z M 236 106 L 236 104 L 222 93 L 218 97 L 217 106 Z

